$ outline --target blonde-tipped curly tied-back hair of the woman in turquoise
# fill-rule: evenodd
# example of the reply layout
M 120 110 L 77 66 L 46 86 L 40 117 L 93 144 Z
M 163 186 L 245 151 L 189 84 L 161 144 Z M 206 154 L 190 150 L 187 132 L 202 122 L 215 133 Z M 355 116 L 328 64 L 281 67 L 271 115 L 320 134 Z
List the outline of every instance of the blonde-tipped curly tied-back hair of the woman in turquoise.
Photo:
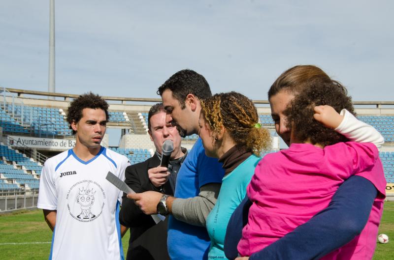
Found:
M 237 145 L 260 155 L 271 148 L 269 131 L 259 124 L 252 100 L 237 92 L 219 93 L 201 101 L 201 113 L 217 136 L 222 126 Z

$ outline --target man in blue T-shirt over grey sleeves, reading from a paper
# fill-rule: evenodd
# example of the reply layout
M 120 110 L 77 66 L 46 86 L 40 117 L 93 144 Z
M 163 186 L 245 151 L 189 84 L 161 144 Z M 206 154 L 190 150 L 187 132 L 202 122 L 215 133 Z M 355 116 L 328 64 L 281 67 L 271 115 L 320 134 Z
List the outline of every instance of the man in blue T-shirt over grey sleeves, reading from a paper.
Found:
M 177 125 L 181 136 L 198 134 L 201 100 L 212 95 L 205 78 L 193 70 L 172 75 L 158 90 L 167 121 Z M 146 214 L 171 214 L 167 248 L 172 260 L 207 259 L 210 240 L 205 219 L 217 200 L 224 170 L 218 159 L 209 158 L 200 139 L 178 172 L 174 197 L 157 192 L 129 195 Z M 160 204 L 160 205 L 158 205 Z

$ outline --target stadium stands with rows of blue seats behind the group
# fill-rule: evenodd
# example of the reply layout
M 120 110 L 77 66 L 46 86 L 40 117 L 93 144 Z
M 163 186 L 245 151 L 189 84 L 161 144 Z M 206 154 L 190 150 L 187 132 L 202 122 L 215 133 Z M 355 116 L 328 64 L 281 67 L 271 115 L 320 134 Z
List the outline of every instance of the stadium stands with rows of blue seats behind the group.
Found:
M 4 138 L 7 135 L 14 134 L 28 137 L 55 137 L 66 140 L 72 138 L 71 130 L 66 122 L 66 108 L 68 102 L 78 95 L 59 94 L 58 98 L 61 97 L 63 100 L 49 101 L 45 97 L 45 92 L 20 89 L 7 89 L 6 91 L 8 91 L 7 95 L 12 92 L 11 94 L 17 94 L 18 97 L 4 96 L 3 102 L 0 102 L 2 142 L 5 143 Z M 23 96 L 23 98 L 14 103 L 14 98 L 18 99 L 19 96 L 25 94 L 33 95 L 33 98 Z M 37 95 L 40 97 L 37 97 Z M 111 147 L 111 149 L 127 156 L 131 164 L 143 162 L 151 157 L 154 151 L 152 146 L 148 146 L 150 140 L 146 136 L 148 131 L 147 111 L 149 111 L 151 104 L 160 102 L 160 99 L 105 98 L 110 103 L 110 118 L 107 126 L 109 128 L 122 129 L 119 147 Z M 111 103 L 110 101 L 118 103 Z M 135 105 L 128 102 L 139 103 Z M 141 102 L 150 102 L 150 104 L 145 105 Z M 362 105 L 365 105 L 365 103 L 363 102 Z M 356 112 L 359 115 L 359 119 L 374 126 L 384 136 L 386 144 L 383 151 L 380 152 L 380 158 L 383 162 L 387 181 L 394 183 L 394 102 L 389 102 L 390 104 L 388 102 L 370 103 L 367 105 L 373 105 L 374 108 L 357 110 L 356 107 Z M 277 137 L 274 133 L 274 122 L 270 115 L 268 102 L 260 101 L 256 104 L 261 124 L 270 130 L 272 136 Z M 263 105 L 259 108 L 258 104 Z M 129 137 L 126 138 L 128 135 Z M 130 138 L 130 135 L 134 137 Z M 187 145 L 187 148 L 190 148 L 197 138 L 197 135 L 191 135 L 183 138 L 182 141 L 184 142 L 183 144 Z M 274 150 L 270 152 L 274 152 Z M 28 154 L 25 150 L 24 153 Z M 42 170 L 41 163 L 7 145 L 0 145 L 0 156 L 0 190 L 38 188 L 39 176 Z M 33 154 L 29 154 L 29 156 L 33 157 Z

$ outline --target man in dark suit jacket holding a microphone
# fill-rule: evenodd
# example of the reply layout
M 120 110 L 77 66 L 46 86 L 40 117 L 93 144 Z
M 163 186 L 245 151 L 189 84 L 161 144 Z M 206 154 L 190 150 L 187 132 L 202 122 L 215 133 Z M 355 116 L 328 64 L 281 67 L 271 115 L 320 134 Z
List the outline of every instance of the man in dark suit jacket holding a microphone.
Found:
M 163 103 L 158 103 L 149 110 L 148 133 L 156 147 L 156 152 L 145 162 L 126 168 L 125 182 L 136 193 L 159 191 L 168 195 L 174 194 L 176 175 L 187 150 L 181 147 L 181 136 L 176 127 L 165 123 L 165 115 Z M 174 144 L 168 169 L 160 167 L 165 140 L 172 140 Z M 142 213 L 134 201 L 124 194 L 119 220 L 122 225 L 131 228 L 127 260 L 170 259 L 167 253 L 168 217 L 164 222 L 155 224 L 151 216 Z

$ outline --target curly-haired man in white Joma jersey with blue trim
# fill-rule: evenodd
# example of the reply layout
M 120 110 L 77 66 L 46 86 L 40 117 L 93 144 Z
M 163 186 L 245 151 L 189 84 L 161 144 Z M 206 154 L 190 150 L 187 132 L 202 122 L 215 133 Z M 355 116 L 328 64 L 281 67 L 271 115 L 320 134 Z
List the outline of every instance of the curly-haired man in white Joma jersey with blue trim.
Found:
M 123 260 L 119 224 L 122 192 L 105 179 L 124 179 L 128 159 L 100 145 L 108 104 L 93 93 L 68 107 L 74 148 L 48 159 L 42 168 L 37 207 L 53 231 L 49 260 Z

